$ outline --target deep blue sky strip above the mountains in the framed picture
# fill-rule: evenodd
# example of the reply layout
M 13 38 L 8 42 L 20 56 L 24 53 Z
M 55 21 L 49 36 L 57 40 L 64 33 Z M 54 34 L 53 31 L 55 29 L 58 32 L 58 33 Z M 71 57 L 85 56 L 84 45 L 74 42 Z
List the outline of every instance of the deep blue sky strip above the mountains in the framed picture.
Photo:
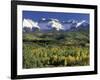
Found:
M 23 19 L 32 19 L 35 21 L 39 21 L 41 18 L 54 18 L 59 19 L 60 21 L 67 20 L 86 20 L 89 22 L 89 14 L 82 13 L 61 13 L 61 12 L 40 12 L 40 11 L 23 11 Z

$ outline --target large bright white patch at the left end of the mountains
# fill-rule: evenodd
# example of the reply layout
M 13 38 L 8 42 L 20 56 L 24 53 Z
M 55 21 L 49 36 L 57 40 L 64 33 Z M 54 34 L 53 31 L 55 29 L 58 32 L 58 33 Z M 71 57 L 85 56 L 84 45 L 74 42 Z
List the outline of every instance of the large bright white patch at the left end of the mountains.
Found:
M 38 22 L 35 22 L 31 19 L 24 19 L 23 20 L 23 27 L 29 27 L 29 28 L 38 28 L 40 29 L 40 27 L 38 26 Z

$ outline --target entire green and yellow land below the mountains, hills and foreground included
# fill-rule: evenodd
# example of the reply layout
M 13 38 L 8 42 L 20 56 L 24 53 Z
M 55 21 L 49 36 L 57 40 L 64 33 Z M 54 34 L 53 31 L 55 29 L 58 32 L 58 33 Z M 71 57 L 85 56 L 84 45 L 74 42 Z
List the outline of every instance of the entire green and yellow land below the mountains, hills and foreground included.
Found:
M 87 65 L 88 31 L 23 33 L 23 68 Z

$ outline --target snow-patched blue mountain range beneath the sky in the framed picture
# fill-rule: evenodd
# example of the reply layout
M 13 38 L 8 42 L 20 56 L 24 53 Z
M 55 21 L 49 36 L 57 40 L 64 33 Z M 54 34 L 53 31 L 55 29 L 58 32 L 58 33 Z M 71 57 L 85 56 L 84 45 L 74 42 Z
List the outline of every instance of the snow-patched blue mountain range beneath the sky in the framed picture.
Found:
M 34 31 L 77 31 L 89 30 L 89 23 L 86 20 L 66 20 L 59 21 L 58 19 L 41 18 L 39 21 L 32 19 L 23 19 L 23 32 Z

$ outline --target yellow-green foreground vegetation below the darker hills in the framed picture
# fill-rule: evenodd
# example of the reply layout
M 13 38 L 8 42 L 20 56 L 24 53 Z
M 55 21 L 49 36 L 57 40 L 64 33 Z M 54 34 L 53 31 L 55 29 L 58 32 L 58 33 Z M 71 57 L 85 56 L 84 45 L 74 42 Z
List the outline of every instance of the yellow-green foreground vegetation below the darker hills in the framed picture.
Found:
M 34 44 L 24 44 L 23 51 L 24 68 L 89 65 L 88 47 L 34 47 Z

